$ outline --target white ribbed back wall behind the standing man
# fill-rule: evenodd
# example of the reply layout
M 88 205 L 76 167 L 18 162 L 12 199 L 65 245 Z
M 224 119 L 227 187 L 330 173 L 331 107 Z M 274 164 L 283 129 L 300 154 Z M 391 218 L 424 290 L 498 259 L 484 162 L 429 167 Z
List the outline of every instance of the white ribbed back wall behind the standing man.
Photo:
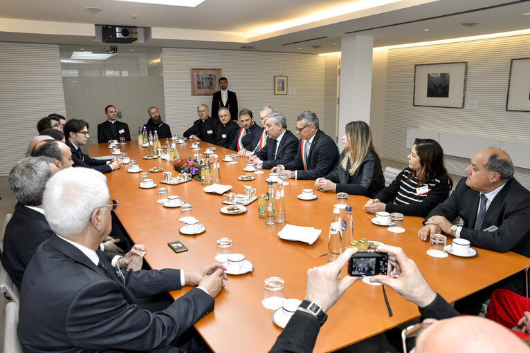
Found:
M 211 96 L 191 95 L 191 69 L 222 68 L 240 110 L 249 108 L 259 120 L 259 109 L 272 106 L 284 113 L 293 132 L 300 112 L 313 111 L 320 128 L 335 137 L 336 56 L 163 48 L 162 64 L 166 118 L 174 133 L 182 134 L 199 118 L 198 104 L 212 104 Z M 274 95 L 275 75 L 287 76 L 296 93 Z

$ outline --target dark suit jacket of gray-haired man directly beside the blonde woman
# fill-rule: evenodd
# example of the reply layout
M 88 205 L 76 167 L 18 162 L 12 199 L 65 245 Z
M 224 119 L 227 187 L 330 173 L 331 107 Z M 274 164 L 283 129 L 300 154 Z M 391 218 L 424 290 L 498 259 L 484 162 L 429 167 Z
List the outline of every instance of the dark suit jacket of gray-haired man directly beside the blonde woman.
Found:
M 327 175 L 338 162 L 337 145 L 331 137 L 318 130 L 313 138 L 307 158 L 307 170 L 302 163 L 302 141 L 298 143 L 298 151 L 295 159 L 289 163 L 282 164 L 289 171 L 297 171 L 298 179 L 316 180 Z

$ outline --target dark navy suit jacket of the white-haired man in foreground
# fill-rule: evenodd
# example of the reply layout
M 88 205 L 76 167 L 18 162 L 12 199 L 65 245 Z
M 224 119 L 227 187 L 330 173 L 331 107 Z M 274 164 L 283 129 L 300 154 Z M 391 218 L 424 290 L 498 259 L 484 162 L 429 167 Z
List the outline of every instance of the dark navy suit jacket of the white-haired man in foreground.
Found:
M 97 253 L 109 276 L 58 236 L 39 246 L 22 280 L 17 331 L 25 352 L 154 350 L 213 310 L 213 298 L 197 288 L 162 312 L 140 309 L 137 297 L 180 289 L 180 271 L 123 271 L 124 284 Z

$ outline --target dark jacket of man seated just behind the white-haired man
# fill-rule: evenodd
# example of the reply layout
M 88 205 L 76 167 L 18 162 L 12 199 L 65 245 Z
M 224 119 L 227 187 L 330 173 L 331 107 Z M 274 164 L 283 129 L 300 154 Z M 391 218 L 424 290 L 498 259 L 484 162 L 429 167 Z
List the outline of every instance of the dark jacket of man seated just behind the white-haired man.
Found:
M 53 234 L 44 214 L 23 204 L 15 205 L 3 236 L 2 266 L 18 289 L 35 250 Z

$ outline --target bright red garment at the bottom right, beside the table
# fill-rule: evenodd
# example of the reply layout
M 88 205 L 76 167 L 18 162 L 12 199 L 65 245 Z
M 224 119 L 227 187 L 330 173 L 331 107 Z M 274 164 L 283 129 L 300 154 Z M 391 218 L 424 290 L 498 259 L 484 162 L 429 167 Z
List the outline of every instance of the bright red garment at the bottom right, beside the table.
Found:
M 508 289 L 495 289 L 491 294 L 486 318 L 511 329 L 517 326 L 524 312 L 530 312 L 530 299 Z M 526 333 L 513 331 L 522 339 L 530 338 Z

